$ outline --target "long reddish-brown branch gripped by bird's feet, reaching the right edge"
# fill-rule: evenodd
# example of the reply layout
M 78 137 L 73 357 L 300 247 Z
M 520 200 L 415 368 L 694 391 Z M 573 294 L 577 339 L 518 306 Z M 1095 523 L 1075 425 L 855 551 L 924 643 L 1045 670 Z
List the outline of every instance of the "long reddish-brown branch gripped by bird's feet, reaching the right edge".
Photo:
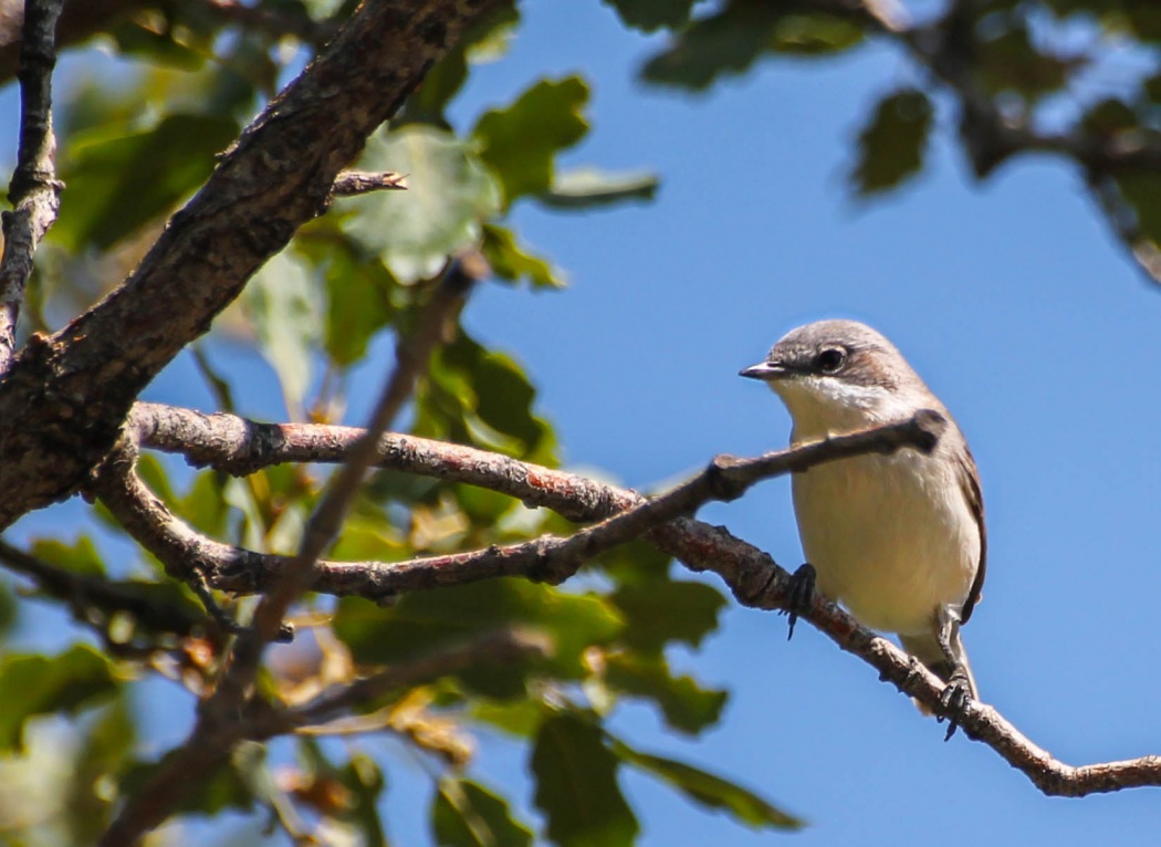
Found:
M 250 472 L 259 466 L 287 461 L 342 461 L 353 437 L 352 430 L 344 427 L 259 425 L 232 415 L 201 415 L 188 410 L 153 404 L 138 404 L 134 410 L 132 424 L 144 444 L 183 453 L 196 464 L 211 464 L 230 472 Z M 188 440 L 185 448 L 183 440 Z M 247 440 L 253 444 L 247 446 Z M 819 453 L 824 454 L 830 449 L 824 447 L 827 443 L 808 446 L 816 450 L 809 461 L 819 461 Z M 848 447 L 851 447 L 850 442 Z M 787 462 L 788 454 L 793 451 L 742 462 L 743 469 L 738 472 L 744 482 L 751 472 L 767 471 L 771 463 Z M 795 463 L 788 464 L 787 470 L 803 470 L 809 456 L 810 454 L 796 454 Z M 766 466 L 763 466 L 764 463 Z M 729 479 L 733 462 L 719 459 L 716 464 L 723 465 Z M 633 492 L 583 477 L 468 447 L 413 436 L 384 435 L 380 440 L 378 466 L 479 485 L 515 497 L 529 506 L 547 506 L 571 520 L 601 520 L 643 501 L 643 498 Z M 728 482 L 722 493 L 734 493 Z M 742 606 L 766 610 L 786 609 L 789 574 L 769 555 L 734 537 L 726 529 L 678 517 L 649 530 L 646 537 L 690 570 L 716 573 Z M 461 556 L 474 555 L 478 556 Z M 455 557 L 440 558 L 453 569 L 462 565 L 462 559 Z M 382 591 L 384 587 L 396 591 L 434 587 L 432 582 L 423 584 L 423 579 L 417 575 L 425 569 L 423 560 L 417 562 L 418 564 L 409 563 L 414 567 L 410 573 L 406 570 L 396 571 L 399 565 L 383 569 L 377 578 L 385 581 L 374 582 L 373 591 Z M 485 558 L 483 562 L 498 569 L 506 566 L 503 556 Z M 485 566 L 479 562 L 476 564 Z M 361 565 L 356 564 L 355 569 L 359 567 Z M 519 575 L 519 569 L 510 570 L 513 572 L 505 575 Z M 424 579 L 434 580 L 447 573 L 450 571 L 433 566 Z M 395 579 L 399 581 L 392 582 Z M 810 609 L 801 617 L 842 650 L 858 656 L 874 667 L 881 680 L 890 682 L 932 711 L 939 711 L 944 683 L 886 638 L 861 627 L 853 617 L 820 595 L 814 598 Z M 973 701 L 968 704 L 959 726 L 969 738 L 991 747 L 1047 795 L 1081 797 L 1123 788 L 1161 787 L 1161 756 L 1148 755 L 1081 767 L 1067 765 L 1034 745 L 995 709 L 981 702 Z

